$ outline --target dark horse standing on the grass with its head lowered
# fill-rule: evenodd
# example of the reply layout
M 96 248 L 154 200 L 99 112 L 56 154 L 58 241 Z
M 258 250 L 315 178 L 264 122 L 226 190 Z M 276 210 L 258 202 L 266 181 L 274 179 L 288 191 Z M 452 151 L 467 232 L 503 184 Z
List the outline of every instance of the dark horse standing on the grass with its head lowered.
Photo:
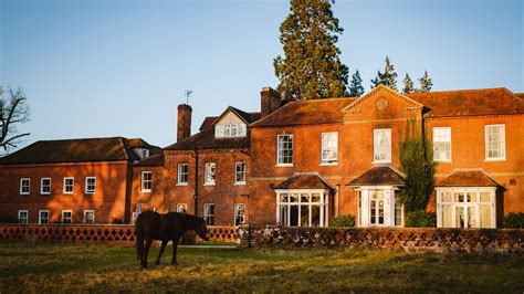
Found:
M 147 267 L 147 254 L 153 240 L 161 240 L 160 252 L 155 264 L 160 263 L 160 256 L 169 241 L 172 241 L 171 265 L 177 264 L 177 246 L 180 237 L 189 230 L 208 241 L 208 228 L 202 218 L 180 212 L 160 214 L 155 211 L 144 211 L 135 222 L 136 251 L 143 267 Z M 146 245 L 144 248 L 144 240 Z

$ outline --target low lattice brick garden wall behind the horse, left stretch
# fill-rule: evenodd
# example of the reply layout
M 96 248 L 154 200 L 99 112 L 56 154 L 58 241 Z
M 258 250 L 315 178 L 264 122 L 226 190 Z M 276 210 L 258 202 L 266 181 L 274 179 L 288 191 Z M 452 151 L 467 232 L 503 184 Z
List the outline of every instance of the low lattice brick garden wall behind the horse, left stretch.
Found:
M 209 242 L 235 243 L 234 227 L 208 227 Z M 128 224 L 0 224 L 0 241 L 135 244 L 135 227 Z M 198 243 L 205 243 L 197 240 Z

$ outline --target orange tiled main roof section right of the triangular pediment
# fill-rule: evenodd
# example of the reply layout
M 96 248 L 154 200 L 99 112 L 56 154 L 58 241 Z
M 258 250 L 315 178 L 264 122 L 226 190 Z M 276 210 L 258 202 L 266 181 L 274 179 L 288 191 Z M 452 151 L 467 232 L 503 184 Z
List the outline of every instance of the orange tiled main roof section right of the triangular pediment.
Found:
M 407 94 L 425 105 L 425 116 L 522 114 L 524 102 L 507 88 L 460 90 Z

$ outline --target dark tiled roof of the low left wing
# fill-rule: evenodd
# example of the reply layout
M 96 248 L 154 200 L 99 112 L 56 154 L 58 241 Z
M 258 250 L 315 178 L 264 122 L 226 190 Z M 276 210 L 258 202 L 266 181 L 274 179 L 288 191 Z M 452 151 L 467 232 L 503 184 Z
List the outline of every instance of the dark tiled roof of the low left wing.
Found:
M 138 160 L 123 137 L 39 140 L 9 156 L 0 165 Z

